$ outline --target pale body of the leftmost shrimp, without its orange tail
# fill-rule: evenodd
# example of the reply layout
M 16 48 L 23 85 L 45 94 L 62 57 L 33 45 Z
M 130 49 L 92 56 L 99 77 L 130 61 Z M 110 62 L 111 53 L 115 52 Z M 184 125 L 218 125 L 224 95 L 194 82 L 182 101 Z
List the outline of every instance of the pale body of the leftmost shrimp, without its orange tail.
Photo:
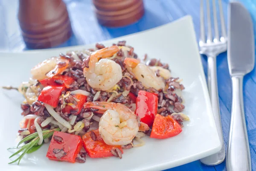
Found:
M 31 69 L 32 78 L 36 80 L 41 80 L 47 78 L 46 74 L 54 69 L 57 64 L 57 58 L 52 57 L 44 60 L 43 62 L 37 64 L 35 67 Z

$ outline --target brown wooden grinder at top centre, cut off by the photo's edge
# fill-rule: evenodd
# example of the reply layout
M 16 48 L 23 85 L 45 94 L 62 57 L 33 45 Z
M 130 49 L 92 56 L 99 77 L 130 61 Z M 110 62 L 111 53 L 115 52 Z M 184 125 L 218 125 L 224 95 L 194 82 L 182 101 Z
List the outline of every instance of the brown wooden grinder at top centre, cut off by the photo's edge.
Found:
M 143 0 L 93 0 L 100 24 L 121 27 L 134 23 L 144 14 Z

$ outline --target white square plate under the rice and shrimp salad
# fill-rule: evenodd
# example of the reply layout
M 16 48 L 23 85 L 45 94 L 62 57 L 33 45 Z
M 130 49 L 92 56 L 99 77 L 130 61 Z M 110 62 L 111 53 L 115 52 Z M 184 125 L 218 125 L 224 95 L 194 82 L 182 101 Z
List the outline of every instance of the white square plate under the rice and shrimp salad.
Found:
M 160 58 L 168 63 L 174 77 L 183 79 L 183 99 L 190 121 L 184 122 L 183 131 L 169 139 L 144 138 L 143 147 L 125 150 L 122 159 L 91 159 L 84 164 L 55 162 L 47 159 L 48 145 L 23 157 L 20 165 L 8 158 L 12 152 L 6 149 L 15 146 L 23 97 L 16 91 L 0 90 L 0 170 L 2 171 L 156 171 L 172 168 L 214 154 L 221 149 L 212 115 L 207 84 L 198 53 L 192 18 L 187 16 L 173 23 L 133 35 L 102 42 L 107 46 L 126 40 L 142 57 Z M 29 78 L 30 69 L 60 52 L 92 48 L 93 45 L 59 49 L 33 50 L 21 53 L 0 53 L 0 86 L 19 86 Z

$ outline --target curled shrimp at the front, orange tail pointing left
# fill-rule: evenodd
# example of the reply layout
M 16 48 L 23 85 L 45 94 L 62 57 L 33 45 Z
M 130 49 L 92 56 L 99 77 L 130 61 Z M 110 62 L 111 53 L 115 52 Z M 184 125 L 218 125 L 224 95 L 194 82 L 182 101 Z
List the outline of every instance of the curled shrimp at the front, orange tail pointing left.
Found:
M 105 110 L 99 121 L 99 133 L 108 145 L 127 145 L 139 130 L 137 116 L 123 104 L 98 101 L 87 102 L 84 107 Z

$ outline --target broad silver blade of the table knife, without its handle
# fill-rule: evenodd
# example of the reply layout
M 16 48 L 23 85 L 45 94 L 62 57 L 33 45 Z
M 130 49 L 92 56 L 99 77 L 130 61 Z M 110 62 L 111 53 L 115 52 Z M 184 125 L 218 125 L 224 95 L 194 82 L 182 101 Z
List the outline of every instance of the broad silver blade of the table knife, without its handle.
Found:
M 229 9 L 227 60 L 230 75 L 247 74 L 253 70 L 255 60 L 253 22 L 241 3 L 232 2 Z

